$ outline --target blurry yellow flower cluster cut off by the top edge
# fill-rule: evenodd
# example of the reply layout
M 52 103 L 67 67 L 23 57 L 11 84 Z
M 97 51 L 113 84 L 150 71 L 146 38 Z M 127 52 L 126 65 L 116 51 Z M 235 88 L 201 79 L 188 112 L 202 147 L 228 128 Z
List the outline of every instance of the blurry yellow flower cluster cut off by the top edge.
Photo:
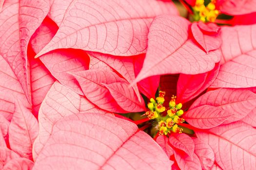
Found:
M 196 0 L 196 4 L 193 7 L 195 12 L 195 19 L 202 22 L 214 22 L 219 14 L 219 11 L 215 7 L 216 0 L 211 0 L 206 6 L 204 0 Z

